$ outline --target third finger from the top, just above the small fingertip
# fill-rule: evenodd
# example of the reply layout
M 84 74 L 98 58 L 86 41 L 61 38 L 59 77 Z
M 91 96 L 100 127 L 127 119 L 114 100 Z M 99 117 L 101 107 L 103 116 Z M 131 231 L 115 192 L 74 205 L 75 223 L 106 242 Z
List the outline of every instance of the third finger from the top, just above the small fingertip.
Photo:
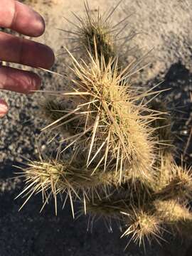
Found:
M 0 89 L 2 90 L 28 94 L 31 90 L 38 90 L 40 85 L 41 78 L 30 71 L 0 67 Z

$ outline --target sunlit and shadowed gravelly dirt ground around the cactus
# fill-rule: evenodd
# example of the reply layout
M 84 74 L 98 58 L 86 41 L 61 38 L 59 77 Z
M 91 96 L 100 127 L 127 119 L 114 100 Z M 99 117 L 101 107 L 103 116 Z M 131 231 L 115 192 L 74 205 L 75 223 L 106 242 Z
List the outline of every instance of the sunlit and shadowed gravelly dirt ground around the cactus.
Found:
M 90 9 L 105 11 L 117 4 L 117 0 L 90 0 Z M 66 39 L 69 35 L 59 31 L 73 28 L 64 16 L 75 21 L 71 11 L 83 16 L 85 10 L 81 0 L 38 0 L 31 4 L 46 20 L 46 33 L 37 41 L 48 44 L 57 56 L 54 71 L 62 73 L 67 65 L 67 57 L 61 55 L 63 46 L 70 46 Z M 151 62 L 148 68 L 140 73 L 138 83 L 153 86 L 164 80 L 161 88 L 172 88 L 164 92 L 171 107 L 179 109 L 174 115 L 178 122 L 176 132 L 179 152 L 183 151 L 191 129 L 191 92 L 192 92 L 192 2 L 191 0 L 124 0 L 114 13 L 112 22 L 117 23 L 128 14 L 129 26 L 122 33 L 129 31 L 139 34 L 129 43 L 139 49 L 133 54 L 149 53 L 144 62 Z M 77 22 L 77 21 L 75 21 Z M 42 89 L 53 89 L 62 85 L 56 75 L 41 72 Z M 120 232 L 114 226 L 114 232 L 108 233 L 102 221 L 95 224 L 92 233 L 87 233 L 87 218 L 73 220 L 70 206 L 65 210 L 58 208 L 55 217 L 53 204 L 48 205 L 43 213 L 41 197 L 36 196 L 18 212 L 22 198 L 14 200 L 23 186 L 19 178 L 12 179 L 16 168 L 23 157 L 35 159 L 37 149 L 35 137 L 40 134 L 43 119 L 39 118 L 38 105 L 40 95 L 25 96 L 16 93 L 1 92 L 9 102 L 11 110 L 7 117 L 0 120 L 0 256 L 190 256 L 191 240 L 169 237 L 169 243 L 155 242 L 146 247 L 146 252 L 131 244 L 124 252 L 127 240 L 119 239 Z M 174 104 L 173 104 L 174 102 Z M 170 107 L 170 109 L 171 109 Z M 179 108 L 180 107 L 180 108 Z M 41 139 L 41 150 L 51 151 L 46 139 Z M 191 147 L 186 158 L 191 162 Z M 168 235 L 169 236 L 169 235 Z

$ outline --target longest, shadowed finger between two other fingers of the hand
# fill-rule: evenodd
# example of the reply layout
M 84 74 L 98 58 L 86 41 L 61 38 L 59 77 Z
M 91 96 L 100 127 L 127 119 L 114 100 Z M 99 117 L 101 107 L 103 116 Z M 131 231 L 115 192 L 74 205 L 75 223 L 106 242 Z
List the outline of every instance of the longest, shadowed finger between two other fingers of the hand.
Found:
M 0 42 L 0 60 L 46 69 L 54 63 L 53 50 L 42 43 L 3 32 L 0 32 Z

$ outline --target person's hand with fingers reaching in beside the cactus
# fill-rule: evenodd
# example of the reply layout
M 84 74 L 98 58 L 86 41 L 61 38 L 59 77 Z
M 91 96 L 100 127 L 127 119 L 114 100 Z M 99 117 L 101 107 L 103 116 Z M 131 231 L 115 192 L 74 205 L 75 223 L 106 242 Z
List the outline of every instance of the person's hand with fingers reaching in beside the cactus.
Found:
M 25 4 L 15 0 L 0 0 L 0 27 L 11 28 L 26 36 L 38 37 L 45 31 L 43 18 Z M 0 32 L 0 60 L 28 65 L 34 68 L 50 68 L 54 53 L 48 46 L 25 38 Z M 0 61 L 0 62 L 1 62 Z M 0 90 L 31 93 L 41 85 L 41 78 L 35 73 L 2 66 L 0 64 Z M 0 99 L 0 117 L 9 107 Z

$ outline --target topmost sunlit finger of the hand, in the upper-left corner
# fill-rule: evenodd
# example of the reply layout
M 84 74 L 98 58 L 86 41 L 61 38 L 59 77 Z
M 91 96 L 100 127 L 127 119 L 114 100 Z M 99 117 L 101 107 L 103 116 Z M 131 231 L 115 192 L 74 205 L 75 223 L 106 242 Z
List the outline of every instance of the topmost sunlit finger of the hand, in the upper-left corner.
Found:
M 1 0 L 0 26 L 26 36 L 41 36 L 45 31 L 43 18 L 29 6 L 14 0 Z

